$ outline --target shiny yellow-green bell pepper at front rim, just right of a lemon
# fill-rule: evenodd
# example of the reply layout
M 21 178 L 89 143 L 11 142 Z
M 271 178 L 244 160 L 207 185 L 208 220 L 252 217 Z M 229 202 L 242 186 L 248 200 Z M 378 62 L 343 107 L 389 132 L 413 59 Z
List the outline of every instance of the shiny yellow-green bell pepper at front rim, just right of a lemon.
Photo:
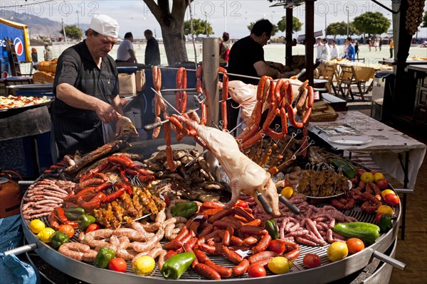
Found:
M 178 253 L 167 259 L 160 271 L 166 279 L 179 279 L 191 263 L 196 259 L 194 253 Z

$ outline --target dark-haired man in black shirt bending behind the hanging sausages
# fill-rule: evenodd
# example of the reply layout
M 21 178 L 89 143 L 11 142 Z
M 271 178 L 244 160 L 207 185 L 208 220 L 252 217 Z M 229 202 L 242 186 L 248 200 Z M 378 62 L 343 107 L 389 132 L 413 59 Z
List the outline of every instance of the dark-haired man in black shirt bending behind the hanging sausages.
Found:
M 285 66 L 279 62 L 266 62 L 264 60 L 263 46 L 270 40 L 273 24 L 268 20 L 257 21 L 251 30 L 251 35 L 242 38 L 233 44 L 228 59 L 228 72 L 253 77 L 267 75 L 277 79 L 282 77 L 281 72 Z M 246 84 L 258 84 L 259 79 L 229 76 L 229 80 L 241 80 Z M 231 107 L 233 106 L 233 107 Z M 227 101 L 227 129 L 236 127 L 239 109 L 233 100 Z

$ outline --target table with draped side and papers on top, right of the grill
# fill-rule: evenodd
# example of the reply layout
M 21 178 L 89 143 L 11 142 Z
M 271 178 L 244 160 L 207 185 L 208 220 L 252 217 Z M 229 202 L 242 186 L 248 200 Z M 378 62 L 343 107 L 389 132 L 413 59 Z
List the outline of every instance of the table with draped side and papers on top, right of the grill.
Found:
M 404 239 L 406 193 L 413 192 L 418 170 L 423 163 L 424 155 L 426 155 L 427 146 L 359 111 L 341 111 L 337 112 L 337 114 L 338 118 L 335 121 L 313 122 L 309 124 L 308 129 L 335 150 L 349 151 L 350 158 L 351 153 L 354 151 L 369 153 L 377 165 L 404 185 L 403 190 L 398 190 L 404 193 L 404 201 L 402 202 L 402 239 Z M 332 136 L 319 129 L 319 126 L 336 127 L 343 125 L 362 131 L 363 134 L 359 138 L 364 137 L 371 141 L 368 143 L 341 145 L 331 142 L 330 138 Z

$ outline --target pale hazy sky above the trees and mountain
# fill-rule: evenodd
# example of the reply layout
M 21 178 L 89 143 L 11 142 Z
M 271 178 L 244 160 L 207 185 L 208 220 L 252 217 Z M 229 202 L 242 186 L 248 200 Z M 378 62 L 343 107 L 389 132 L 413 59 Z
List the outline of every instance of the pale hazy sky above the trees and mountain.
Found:
M 391 8 L 391 0 L 380 2 Z M 191 4 L 191 10 L 194 18 L 207 18 L 214 28 L 214 35 L 220 36 L 223 31 L 228 31 L 232 38 L 242 38 L 249 33 L 248 28 L 246 28 L 249 23 L 260 18 L 267 18 L 273 23 L 277 23 L 280 18 L 285 16 L 283 7 L 270 7 L 272 4 L 267 0 L 196 0 Z M 2 0 L 0 6 L 5 10 L 34 14 L 42 18 L 51 18 L 55 21 L 63 19 L 65 24 L 73 24 L 78 21 L 80 23 L 90 23 L 90 18 L 92 18 L 93 14 L 105 13 L 117 19 L 120 24 L 121 36 L 127 31 L 132 31 L 135 38 L 142 38 L 144 30 L 147 28 L 154 31 L 157 38 L 162 36 L 159 23 L 157 23 L 157 20 L 142 0 Z M 347 22 L 346 6 L 349 7 L 349 21 L 367 11 L 379 11 L 391 19 L 389 11 L 369 0 L 318 0 L 315 2 L 315 31 L 325 30 L 325 20 L 326 24 L 338 21 Z M 427 10 L 427 2 L 424 10 Z M 305 23 L 305 6 L 298 6 L 294 10 L 294 16 L 299 18 L 302 23 Z M 189 9 L 186 11 L 186 19 L 189 19 Z M 294 36 L 296 37 L 296 35 L 302 33 L 304 33 L 304 26 L 302 26 L 302 31 Z M 418 37 L 427 38 L 427 28 L 420 28 Z

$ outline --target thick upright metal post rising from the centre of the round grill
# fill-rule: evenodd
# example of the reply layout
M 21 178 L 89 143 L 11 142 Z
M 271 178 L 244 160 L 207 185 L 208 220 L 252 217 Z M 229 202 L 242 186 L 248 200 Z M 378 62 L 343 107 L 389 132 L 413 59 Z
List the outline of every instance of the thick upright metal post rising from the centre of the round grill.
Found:
M 218 92 L 218 67 L 219 67 L 219 40 L 218 38 L 203 39 L 203 82 L 204 91 L 207 97 L 208 120 L 206 126 L 215 127 L 218 125 L 219 114 L 219 92 Z M 206 154 L 206 162 L 215 173 L 218 167 L 218 160 L 209 152 Z

